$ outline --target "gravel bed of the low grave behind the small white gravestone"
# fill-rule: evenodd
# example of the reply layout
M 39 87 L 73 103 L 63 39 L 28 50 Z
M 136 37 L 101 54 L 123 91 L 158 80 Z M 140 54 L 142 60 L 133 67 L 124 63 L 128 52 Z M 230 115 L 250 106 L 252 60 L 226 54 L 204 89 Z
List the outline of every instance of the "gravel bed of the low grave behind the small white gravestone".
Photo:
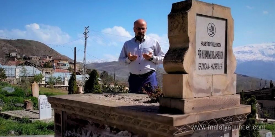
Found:
M 29 119 L 39 119 L 39 111 L 38 110 L 34 110 L 34 111 L 38 113 L 27 111 L 27 110 L 8 111 L 8 113 L 16 114 L 23 117 L 28 117 Z M 53 115 L 54 115 L 54 111 L 52 109 L 52 116 Z

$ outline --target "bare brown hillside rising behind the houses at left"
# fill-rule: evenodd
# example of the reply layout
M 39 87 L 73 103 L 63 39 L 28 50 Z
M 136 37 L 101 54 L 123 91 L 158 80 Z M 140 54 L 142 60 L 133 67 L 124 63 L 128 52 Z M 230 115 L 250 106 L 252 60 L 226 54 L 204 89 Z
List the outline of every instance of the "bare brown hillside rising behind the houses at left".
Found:
M 63 57 L 68 58 L 65 55 L 58 53 L 47 45 L 34 41 L 34 40 L 4 40 L 0 39 L 0 58 L 4 58 L 6 54 L 16 51 L 22 56 L 29 55 L 51 55 L 53 58 Z M 70 61 L 72 59 L 68 58 Z

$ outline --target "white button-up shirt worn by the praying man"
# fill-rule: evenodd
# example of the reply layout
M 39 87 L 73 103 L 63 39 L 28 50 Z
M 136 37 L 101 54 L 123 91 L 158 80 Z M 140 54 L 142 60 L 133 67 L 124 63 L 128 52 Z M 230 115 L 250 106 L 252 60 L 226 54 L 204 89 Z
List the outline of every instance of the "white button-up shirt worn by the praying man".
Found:
M 142 54 L 149 52 L 153 54 L 153 60 L 149 61 L 144 59 Z M 128 59 L 128 53 L 132 55 L 137 55 L 138 58 L 134 61 Z M 128 65 L 128 69 L 132 74 L 144 74 L 152 70 L 157 69 L 157 65 L 163 64 L 164 53 L 158 40 L 144 36 L 142 42 L 136 40 L 134 37 L 131 40 L 128 40 L 124 43 L 119 56 L 119 64 Z

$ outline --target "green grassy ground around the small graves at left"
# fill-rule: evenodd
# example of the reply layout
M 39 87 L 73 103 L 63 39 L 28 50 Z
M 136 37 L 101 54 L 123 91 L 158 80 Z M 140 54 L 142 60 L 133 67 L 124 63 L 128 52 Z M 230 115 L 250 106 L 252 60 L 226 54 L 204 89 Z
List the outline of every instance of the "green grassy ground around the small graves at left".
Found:
M 9 93 L 3 91 L 4 87 L 12 87 L 14 91 Z M 33 111 L 38 111 L 38 99 L 32 97 L 31 88 L 27 89 L 27 93 L 22 87 L 18 85 L 11 85 L 8 83 L 0 82 L 0 99 L 4 102 L 4 106 L 1 106 L 0 111 L 15 111 L 24 110 L 22 106 L 24 100 L 31 100 L 33 104 Z M 47 87 L 39 87 L 39 95 L 53 96 L 68 94 L 68 91 L 60 89 L 50 89 Z M 53 135 L 54 124 L 53 122 L 43 121 L 31 121 L 27 117 L 23 119 L 17 119 L 15 117 L 4 117 L 0 115 L 0 136 L 7 135 Z

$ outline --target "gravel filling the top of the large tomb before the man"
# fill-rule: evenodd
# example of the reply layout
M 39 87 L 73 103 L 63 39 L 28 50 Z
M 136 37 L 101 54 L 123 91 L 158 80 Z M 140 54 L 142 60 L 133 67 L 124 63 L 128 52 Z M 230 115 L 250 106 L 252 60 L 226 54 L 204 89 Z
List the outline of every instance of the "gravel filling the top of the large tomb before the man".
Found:
M 81 97 L 89 97 L 95 99 L 110 100 L 115 102 L 125 102 L 134 105 L 143 105 L 143 106 L 159 106 L 159 103 L 148 102 L 151 99 L 144 94 L 93 94 L 93 95 L 83 95 Z

